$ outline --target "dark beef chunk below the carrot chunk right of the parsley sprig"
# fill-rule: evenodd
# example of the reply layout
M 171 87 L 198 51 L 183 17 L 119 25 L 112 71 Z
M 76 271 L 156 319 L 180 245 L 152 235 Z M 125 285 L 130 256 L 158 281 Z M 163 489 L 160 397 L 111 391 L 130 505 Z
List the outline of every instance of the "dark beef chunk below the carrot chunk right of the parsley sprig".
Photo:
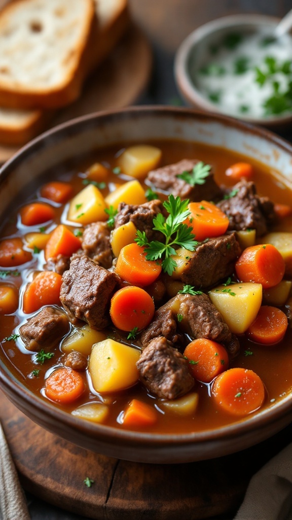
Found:
M 210 287 L 234 272 L 234 263 L 241 254 L 235 233 L 210 238 L 187 251 L 185 263 L 179 271 L 179 279 L 194 287 Z

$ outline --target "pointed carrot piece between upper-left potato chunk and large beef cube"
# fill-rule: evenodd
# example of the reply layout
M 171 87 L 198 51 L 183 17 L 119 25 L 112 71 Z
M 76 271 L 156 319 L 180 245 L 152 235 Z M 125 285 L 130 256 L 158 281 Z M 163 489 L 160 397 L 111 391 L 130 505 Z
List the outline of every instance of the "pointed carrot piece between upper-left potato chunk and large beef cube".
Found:
M 58 255 L 71 256 L 81 247 L 81 240 L 66 226 L 60 224 L 52 231 L 45 246 L 45 258 L 54 258 Z

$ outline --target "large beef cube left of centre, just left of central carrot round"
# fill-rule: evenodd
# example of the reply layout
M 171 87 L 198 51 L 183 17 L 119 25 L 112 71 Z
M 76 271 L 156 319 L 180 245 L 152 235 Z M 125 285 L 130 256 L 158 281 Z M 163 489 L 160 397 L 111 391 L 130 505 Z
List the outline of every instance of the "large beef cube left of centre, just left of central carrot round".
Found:
M 72 323 L 78 319 L 101 330 L 110 323 L 109 307 L 120 278 L 87 256 L 76 257 L 63 274 L 60 300 Z

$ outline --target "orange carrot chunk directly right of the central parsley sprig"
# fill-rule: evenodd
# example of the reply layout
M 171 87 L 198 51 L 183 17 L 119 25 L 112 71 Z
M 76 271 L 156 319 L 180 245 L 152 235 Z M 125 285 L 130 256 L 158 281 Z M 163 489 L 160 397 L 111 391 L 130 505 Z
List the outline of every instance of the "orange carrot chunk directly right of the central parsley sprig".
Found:
M 201 241 L 224 235 L 229 226 L 229 219 L 215 204 L 205 200 L 191 202 L 188 204 L 188 209 L 191 215 L 185 223 L 193 228 L 195 240 Z

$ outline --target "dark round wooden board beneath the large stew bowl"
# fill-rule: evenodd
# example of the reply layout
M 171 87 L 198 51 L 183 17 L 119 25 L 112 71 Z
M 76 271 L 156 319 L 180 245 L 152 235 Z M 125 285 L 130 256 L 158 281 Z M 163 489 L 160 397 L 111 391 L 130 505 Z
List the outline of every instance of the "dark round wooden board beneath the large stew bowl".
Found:
M 92 453 L 34 424 L 0 392 L 0 419 L 26 491 L 104 520 L 202 520 L 235 513 L 250 477 L 286 446 L 292 426 L 233 455 L 189 464 L 141 464 Z M 94 480 L 91 487 L 84 479 Z M 182 516 L 183 515 L 183 516 Z

